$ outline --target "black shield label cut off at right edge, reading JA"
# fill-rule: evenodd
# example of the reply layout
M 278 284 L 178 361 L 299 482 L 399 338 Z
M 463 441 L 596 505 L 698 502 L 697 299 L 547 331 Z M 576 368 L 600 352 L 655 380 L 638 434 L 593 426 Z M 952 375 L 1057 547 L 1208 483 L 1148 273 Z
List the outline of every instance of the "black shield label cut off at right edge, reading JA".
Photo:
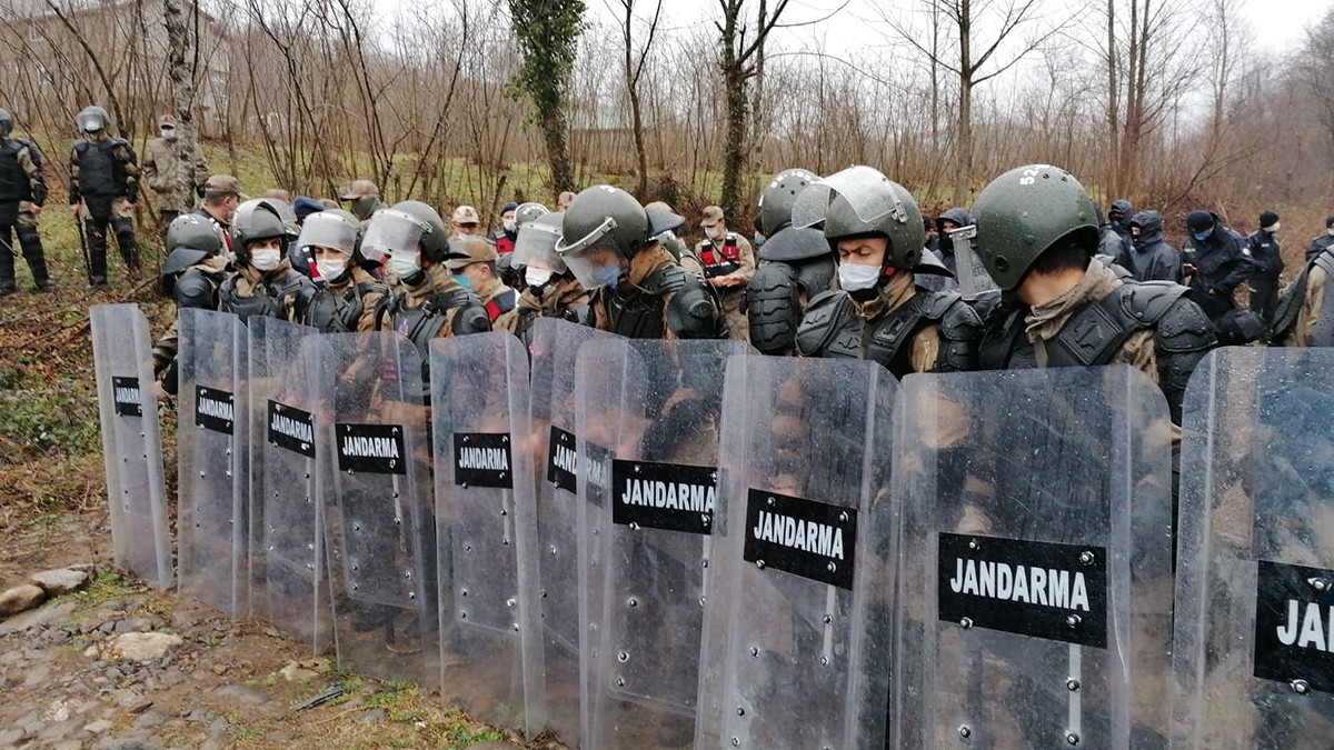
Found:
M 1334 571 L 1258 565 L 1255 677 L 1334 693 Z

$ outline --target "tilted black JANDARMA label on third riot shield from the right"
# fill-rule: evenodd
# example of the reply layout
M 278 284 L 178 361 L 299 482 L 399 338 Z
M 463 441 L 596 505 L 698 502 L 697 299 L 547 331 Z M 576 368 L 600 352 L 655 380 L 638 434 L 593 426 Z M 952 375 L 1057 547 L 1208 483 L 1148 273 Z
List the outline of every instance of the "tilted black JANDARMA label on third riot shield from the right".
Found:
M 742 559 L 851 590 L 856 508 L 751 488 Z

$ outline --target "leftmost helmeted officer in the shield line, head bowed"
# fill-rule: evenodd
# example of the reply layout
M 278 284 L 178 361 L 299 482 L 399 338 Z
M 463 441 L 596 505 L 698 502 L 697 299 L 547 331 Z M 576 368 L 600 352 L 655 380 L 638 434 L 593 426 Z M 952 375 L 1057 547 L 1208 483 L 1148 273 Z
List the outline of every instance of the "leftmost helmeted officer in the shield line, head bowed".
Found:
M 223 235 L 217 226 L 197 214 L 184 214 L 167 227 L 167 260 L 163 263 L 163 294 L 176 310 L 217 310 L 217 290 L 228 278 L 223 255 Z M 153 344 L 153 376 L 161 391 L 176 395 L 177 320 Z

